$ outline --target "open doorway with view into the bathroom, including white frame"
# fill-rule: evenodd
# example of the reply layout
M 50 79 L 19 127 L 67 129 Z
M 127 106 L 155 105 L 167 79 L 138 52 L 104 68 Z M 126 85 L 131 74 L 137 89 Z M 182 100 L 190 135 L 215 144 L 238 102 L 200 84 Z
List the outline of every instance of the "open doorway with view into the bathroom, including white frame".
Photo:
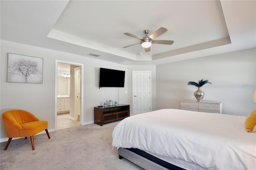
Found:
M 83 64 L 56 60 L 55 130 L 83 124 Z

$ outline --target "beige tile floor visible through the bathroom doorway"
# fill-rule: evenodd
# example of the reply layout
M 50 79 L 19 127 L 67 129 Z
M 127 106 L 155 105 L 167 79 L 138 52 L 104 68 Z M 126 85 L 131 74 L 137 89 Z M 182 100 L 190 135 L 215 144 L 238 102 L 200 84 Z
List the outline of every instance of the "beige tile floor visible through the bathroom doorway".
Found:
M 80 125 L 80 121 L 73 121 L 69 119 L 69 114 L 57 116 L 57 130 Z

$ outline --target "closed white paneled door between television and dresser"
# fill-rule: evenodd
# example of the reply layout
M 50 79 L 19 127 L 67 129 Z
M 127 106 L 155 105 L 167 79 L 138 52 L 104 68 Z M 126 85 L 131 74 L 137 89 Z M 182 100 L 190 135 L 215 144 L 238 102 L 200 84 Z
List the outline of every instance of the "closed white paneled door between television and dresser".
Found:
M 132 71 L 133 115 L 151 111 L 151 71 Z

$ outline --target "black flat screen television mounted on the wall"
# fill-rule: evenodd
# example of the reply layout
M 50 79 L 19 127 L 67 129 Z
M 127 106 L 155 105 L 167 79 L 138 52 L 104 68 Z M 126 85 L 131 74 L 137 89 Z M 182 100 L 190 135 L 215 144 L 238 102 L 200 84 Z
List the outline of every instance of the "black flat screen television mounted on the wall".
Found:
M 100 87 L 124 87 L 125 71 L 100 68 Z

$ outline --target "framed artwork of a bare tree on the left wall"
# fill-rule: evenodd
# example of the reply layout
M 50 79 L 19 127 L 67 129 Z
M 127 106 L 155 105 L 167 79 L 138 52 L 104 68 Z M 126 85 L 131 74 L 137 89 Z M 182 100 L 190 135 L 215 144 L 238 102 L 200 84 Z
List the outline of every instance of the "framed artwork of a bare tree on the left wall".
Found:
M 7 82 L 43 83 L 43 58 L 8 53 Z

